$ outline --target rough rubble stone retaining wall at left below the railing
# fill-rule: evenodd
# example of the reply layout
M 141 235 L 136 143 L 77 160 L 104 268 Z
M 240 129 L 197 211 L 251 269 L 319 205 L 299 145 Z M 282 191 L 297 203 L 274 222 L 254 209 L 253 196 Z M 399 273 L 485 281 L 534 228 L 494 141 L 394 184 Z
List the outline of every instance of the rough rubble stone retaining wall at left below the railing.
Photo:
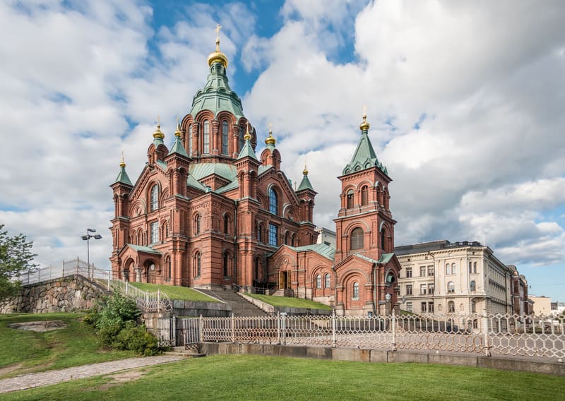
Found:
M 0 313 L 84 311 L 102 294 L 109 293 L 81 275 L 71 275 L 22 287 L 16 297 L 0 302 Z

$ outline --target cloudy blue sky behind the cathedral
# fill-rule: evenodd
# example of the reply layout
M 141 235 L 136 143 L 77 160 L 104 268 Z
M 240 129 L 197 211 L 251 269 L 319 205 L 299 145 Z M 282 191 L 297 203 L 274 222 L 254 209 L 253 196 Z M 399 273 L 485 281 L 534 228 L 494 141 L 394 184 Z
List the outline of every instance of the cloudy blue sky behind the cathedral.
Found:
M 135 180 L 157 116 L 172 143 L 220 23 L 257 152 L 272 123 L 317 225 L 365 105 L 397 245 L 481 241 L 565 301 L 564 20 L 559 0 L 2 0 L 0 223 L 43 265 L 85 259 L 94 227 L 108 268 L 121 151 Z

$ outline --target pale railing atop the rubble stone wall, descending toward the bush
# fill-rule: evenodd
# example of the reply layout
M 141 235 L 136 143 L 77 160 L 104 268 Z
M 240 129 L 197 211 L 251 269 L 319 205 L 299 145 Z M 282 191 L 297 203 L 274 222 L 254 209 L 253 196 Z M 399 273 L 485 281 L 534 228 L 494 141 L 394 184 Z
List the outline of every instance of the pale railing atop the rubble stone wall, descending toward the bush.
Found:
M 101 270 L 94 265 L 76 258 L 72 261 L 64 261 L 59 266 L 47 266 L 31 270 L 28 273 L 13 277 L 14 281 L 20 281 L 22 285 L 32 285 L 47 280 L 56 280 L 71 275 L 81 275 L 88 280 L 102 285 L 108 291 L 118 291 L 120 294 L 130 297 L 136 301 L 139 309 L 145 312 L 169 312 L 172 311 L 172 303 L 167 294 L 160 292 L 148 292 L 133 287 L 129 282 L 112 277 L 111 270 Z

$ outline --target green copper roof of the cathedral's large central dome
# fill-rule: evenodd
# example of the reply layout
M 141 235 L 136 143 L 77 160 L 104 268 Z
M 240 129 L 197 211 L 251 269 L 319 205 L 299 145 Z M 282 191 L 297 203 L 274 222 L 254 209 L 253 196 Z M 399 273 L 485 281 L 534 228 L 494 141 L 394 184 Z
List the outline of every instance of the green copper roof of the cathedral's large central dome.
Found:
M 214 115 L 227 111 L 237 119 L 244 116 L 242 101 L 231 90 L 227 81 L 224 66 L 220 63 L 212 64 L 206 85 L 194 95 L 190 114 L 196 116 L 202 110 L 210 110 Z

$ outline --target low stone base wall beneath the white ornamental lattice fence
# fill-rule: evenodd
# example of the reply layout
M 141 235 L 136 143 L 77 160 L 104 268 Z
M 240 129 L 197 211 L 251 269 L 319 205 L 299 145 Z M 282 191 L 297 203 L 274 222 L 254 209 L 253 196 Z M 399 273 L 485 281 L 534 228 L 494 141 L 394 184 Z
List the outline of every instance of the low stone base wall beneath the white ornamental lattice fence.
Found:
M 475 366 L 565 376 L 564 363 L 542 362 L 530 359 L 504 359 L 480 355 L 436 354 L 436 352 L 386 351 L 380 349 L 308 347 L 299 345 L 232 344 L 230 342 L 204 342 L 200 345 L 200 352 L 206 355 L 254 354 L 328 359 L 332 361 L 376 362 L 381 364 L 417 362 L 422 364 Z

